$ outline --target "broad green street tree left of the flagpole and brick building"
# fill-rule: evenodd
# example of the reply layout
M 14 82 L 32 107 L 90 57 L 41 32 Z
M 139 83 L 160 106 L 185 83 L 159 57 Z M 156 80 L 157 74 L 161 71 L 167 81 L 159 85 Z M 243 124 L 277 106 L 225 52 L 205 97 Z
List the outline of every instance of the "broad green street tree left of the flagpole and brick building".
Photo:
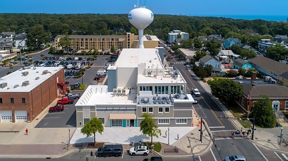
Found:
M 221 102 L 226 103 L 228 101 L 233 101 L 242 94 L 242 85 L 225 78 L 213 78 L 213 80 L 207 81 L 211 88 L 211 93 L 217 97 Z

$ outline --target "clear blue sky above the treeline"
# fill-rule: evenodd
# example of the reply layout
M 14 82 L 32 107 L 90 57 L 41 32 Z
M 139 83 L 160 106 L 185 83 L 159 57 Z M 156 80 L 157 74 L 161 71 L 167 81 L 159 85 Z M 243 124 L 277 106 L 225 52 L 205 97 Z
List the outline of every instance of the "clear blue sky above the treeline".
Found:
M 146 7 L 154 14 L 284 16 L 286 1 L 146 0 Z M 0 13 L 129 13 L 135 4 L 137 0 L 2 0 Z

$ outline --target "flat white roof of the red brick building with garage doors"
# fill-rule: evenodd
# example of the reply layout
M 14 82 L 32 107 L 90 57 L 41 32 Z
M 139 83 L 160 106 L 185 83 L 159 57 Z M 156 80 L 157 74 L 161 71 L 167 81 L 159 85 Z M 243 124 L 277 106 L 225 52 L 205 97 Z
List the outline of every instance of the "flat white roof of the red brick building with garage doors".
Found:
M 31 67 L 31 69 L 19 69 L 0 78 L 0 84 L 7 83 L 6 87 L 0 88 L 0 92 L 29 92 L 62 68 L 63 67 Z M 48 70 L 49 73 L 42 75 L 44 70 Z M 22 76 L 23 72 L 28 72 L 28 75 Z M 39 79 L 36 80 L 36 77 L 39 77 Z M 24 81 L 29 81 L 29 85 L 22 86 Z M 19 87 L 14 88 L 15 85 L 19 85 Z

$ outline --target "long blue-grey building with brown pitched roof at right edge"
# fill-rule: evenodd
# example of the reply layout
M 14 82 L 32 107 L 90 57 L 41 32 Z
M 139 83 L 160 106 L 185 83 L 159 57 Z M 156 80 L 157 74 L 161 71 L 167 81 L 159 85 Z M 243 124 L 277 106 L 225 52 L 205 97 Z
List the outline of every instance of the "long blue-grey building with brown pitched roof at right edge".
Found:
M 266 58 L 257 56 L 248 60 L 253 68 L 263 76 L 272 77 L 275 80 L 280 80 L 279 75 L 288 71 L 288 65 Z

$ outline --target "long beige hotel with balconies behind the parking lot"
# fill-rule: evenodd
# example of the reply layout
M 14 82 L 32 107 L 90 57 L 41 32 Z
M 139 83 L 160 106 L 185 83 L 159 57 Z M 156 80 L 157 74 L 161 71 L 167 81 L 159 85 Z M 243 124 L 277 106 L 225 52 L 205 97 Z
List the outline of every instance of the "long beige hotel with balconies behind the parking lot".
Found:
M 61 38 L 65 35 L 57 35 L 55 37 L 55 48 L 61 50 L 62 46 L 58 44 Z M 70 35 L 70 43 L 73 50 L 90 50 L 97 48 L 98 50 L 109 49 L 112 46 L 115 49 L 122 50 L 123 48 L 137 48 L 138 35 L 127 33 L 126 35 Z M 154 35 L 144 35 L 144 47 L 158 47 L 159 39 Z

